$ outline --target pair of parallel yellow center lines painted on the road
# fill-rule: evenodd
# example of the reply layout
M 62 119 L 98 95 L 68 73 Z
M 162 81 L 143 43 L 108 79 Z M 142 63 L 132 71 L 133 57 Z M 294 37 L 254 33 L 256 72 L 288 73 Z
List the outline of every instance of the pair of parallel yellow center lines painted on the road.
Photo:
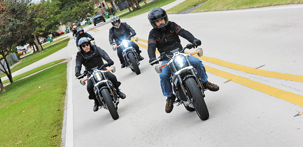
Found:
M 147 40 L 144 39 L 139 39 L 139 41 L 147 43 Z M 142 47 L 144 49 L 147 49 L 146 45 L 137 43 L 136 44 L 139 47 Z M 160 54 L 157 51 L 158 54 Z M 286 80 L 292 80 L 292 81 L 298 81 L 298 82 L 303 82 L 303 76 L 302 75 L 294 75 L 294 74 L 287 74 L 287 73 L 276 73 L 276 72 L 269 72 L 269 71 L 264 71 L 264 70 L 260 70 L 260 69 L 254 69 L 254 68 L 250 68 L 250 67 L 245 67 L 245 66 L 241 66 L 241 65 L 237 65 L 234 63 L 229 63 L 229 62 L 225 62 L 219 59 L 215 59 L 215 58 L 211 58 L 211 57 L 206 57 L 206 56 L 202 56 L 199 57 L 198 55 L 194 55 L 195 57 L 213 63 L 213 64 L 217 64 L 220 66 L 224 66 L 227 68 L 231 68 L 231 69 L 235 69 L 241 72 L 245 72 L 245 73 L 252 73 L 252 74 L 256 74 L 256 75 L 262 75 L 262 76 L 267 76 L 267 77 L 272 77 L 272 78 L 279 78 L 279 79 L 286 79 Z M 274 88 L 250 79 L 247 79 L 245 77 L 236 75 L 236 74 L 232 74 L 232 73 L 227 73 L 212 67 L 208 67 L 205 66 L 205 69 L 208 73 L 212 73 L 215 75 L 218 75 L 220 77 L 226 78 L 228 79 L 228 81 L 232 80 L 238 84 L 241 84 L 243 86 L 258 90 L 260 92 L 263 92 L 265 94 L 268 94 L 270 96 L 276 97 L 276 98 L 281 98 L 284 99 L 286 101 L 289 101 L 291 103 L 294 103 L 296 105 L 302 106 L 303 107 L 303 96 L 291 93 L 291 92 L 287 92 L 284 90 L 280 90 L 278 88 Z

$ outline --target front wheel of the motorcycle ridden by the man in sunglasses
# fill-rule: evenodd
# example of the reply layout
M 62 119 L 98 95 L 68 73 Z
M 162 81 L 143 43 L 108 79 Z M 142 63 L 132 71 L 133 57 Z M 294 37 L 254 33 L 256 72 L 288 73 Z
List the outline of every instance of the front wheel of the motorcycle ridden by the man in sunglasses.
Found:
M 102 94 L 102 97 L 103 97 L 103 99 L 105 101 L 105 104 L 106 104 L 106 106 L 108 108 L 108 111 L 109 111 L 112 119 L 113 120 L 119 119 L 119 114 L 117 112 L 117 109 L 116 109 L 114 103 L 111 100 L 111 97 L 110 97 L 110 94 L 108 92 L 108 89 L 106 89 L 106 88 L 102 89 L 101 90 L 101 94 Z

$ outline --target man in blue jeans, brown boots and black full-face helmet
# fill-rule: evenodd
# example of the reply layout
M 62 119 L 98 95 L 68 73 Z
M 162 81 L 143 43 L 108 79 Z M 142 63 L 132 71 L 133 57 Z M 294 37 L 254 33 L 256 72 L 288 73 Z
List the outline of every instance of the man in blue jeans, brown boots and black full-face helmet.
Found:
M 148 13 L 148 20 L 150 24 L 154 27 L 148 36 L 148 56 L 149 63 L 156 60 L 156 48 L 160 53 L 169 53 L 173 49 L 183 49 L 181 46 L 181 41 L 179 36 L 185 38 L 196 47 L 201 45 L 201 41 L 195 38 L 189 31 L 181 28 L 174 22 L 168 21 L 168 16 L 165 10 L 162 8 L 152 8 Z M 202 79 L 203 87 L 209 89 L 210 91 L 218 91 L 219 86 L 212 84 L 207 81 L 207 74 L 202 61 L 194 56 L 189 56 L 189 60 L 194 68 L 198 71 L 199 76 Z M 159 61 L 153 63 L 158 64 Z M 168 58 L 162 61 L 162 65 L 168 63 Z M 151 64 L 151 65 L 153 65 Z M 167 98 L 167 103 L 165 111 L 170 113 L 173 108 L 173 101 L 175 96 L 172 93 L 171 83 L 170 83 L 170 68 L 169 66 L 162 68 L 162 73 L 160 73 L 160 83 L 162 88 L 162 93 Z

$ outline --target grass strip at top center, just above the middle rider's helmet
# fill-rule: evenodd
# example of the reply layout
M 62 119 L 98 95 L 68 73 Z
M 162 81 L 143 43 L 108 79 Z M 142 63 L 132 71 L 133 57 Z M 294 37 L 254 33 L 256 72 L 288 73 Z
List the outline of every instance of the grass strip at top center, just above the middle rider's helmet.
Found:
M 119 17 L 120 18 L 131 18 L 131 17 L 137 16 L 137 15 L 143 14 L 145 12 L 149 12 L 154 7 L 162 7 L 173 1 L 175 1 L 175 0 L 160 0 L 157 2 L 147 3 L 147 4 L 144 4 L 141 6 L 142 9 L 124 13 L 124 14 L 120 15 Z

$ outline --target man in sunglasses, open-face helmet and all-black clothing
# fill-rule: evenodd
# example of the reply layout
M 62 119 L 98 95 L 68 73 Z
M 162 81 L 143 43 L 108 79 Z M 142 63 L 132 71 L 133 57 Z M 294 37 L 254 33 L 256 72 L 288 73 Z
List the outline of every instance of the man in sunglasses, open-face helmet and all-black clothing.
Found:
M 98 68 L 100 68 L 103 65 L 102 59 L 104 59 L 109 66 L 114 64 L 114 61 L 112 61 L 109 58 L 107 53 L 103 49 L 97 47 L 96 45 L 91 45 L 91 42 L 89 41 L 88 38 L 86 37 L 81 38 L 78 44 L 80 46 L 80 50 L 77 52 L 76 55 L 76 67 L 75 67 L 76 77 L 81 75 L 80 71 L 82 64 L 84 65 L 85 69 L 88 70 L 88 72 L 92 72 L 91 69 L 97 66 Z M 102 70 L 106 70 L 106 68 L 104 67 Z M 119 86 L 121 85 L 121 82 L 117 80 L 117 77 L 109 72 L 105 74 L 108 77 L 108 79 L 113 83 L 113 86 L 117 90 L 117 94 L 120 96 L 120 98 L 122 99 L 126 98 L 125 94 L 119 90 Z M 87 76 L 89 77 L 90 74 L 88 74 Z M 89 93 L 88 98 L 95 100 L 93 110 L 95 112 L 98 111 L 100 104 L 94 93 L 94 85 L 91 79 L 87 81 L 87 92 Z

